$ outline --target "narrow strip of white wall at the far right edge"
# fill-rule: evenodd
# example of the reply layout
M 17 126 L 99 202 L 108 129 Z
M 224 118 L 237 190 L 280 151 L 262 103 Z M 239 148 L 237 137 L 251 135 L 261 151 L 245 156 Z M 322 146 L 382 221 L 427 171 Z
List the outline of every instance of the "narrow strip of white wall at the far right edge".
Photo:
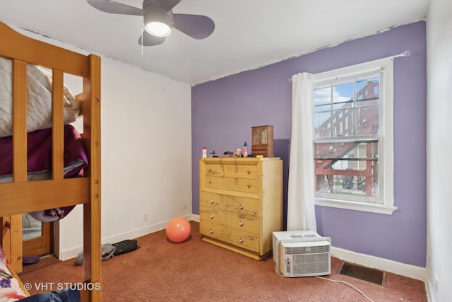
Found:
M 451 37 L 452 2 L 432 0 L 427 18 L 427 288 L 430 301 L 438 302 L 451 301 L 452 295 Z

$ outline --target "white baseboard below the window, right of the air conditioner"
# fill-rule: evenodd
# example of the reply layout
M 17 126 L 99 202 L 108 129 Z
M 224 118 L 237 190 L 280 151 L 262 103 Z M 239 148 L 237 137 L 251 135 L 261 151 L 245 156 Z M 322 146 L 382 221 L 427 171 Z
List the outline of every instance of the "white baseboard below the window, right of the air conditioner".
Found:
M 331 247 L 331 255 L 347 262 L 364 265 L 380 269 L 394 274 L 400 274 L 413 279 L 422 281 L 427 280 L 427 269 L 425 267 L 417 267 L 415 265 L 406 265 L 405 263 L 396 262 L 384 258 L 374 257 L 370 255 L 359 254 L 342 248 Z

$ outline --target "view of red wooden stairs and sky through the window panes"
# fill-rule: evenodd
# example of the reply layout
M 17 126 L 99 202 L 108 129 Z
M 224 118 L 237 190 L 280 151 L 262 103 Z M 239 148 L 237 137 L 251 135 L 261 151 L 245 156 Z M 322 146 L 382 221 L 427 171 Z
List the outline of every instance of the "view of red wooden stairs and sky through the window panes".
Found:
M 379 72 L 314 88 L 315 190 L 379 198 Z

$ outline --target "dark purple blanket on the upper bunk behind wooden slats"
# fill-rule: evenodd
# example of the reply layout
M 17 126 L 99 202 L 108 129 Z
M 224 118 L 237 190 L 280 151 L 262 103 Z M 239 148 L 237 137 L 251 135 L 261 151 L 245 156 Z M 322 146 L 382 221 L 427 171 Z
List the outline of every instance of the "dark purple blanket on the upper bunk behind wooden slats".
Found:
M 28 133 L 27 172 L 52 170 L 52 129 L 42 129 Z M 77 130 L 70 124 L 64 125 L 64 178 L 83 176 L 83 168 L 88 165 L 88 156 Z M 13 173 L 13 137 L 0 138 L 0 175 Z M 55 221 L 63 218 L 71 207 L 48 209 L 30 213 L 40 221 Z

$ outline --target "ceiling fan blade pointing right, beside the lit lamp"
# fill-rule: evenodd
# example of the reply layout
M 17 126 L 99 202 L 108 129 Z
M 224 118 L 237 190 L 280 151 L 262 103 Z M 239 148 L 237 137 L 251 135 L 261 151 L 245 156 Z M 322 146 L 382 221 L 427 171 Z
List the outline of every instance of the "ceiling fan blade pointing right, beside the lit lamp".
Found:
M 173 28 L 196 40 L 205 39 L 215 30 L 215 23 L 206 16 L 173 13 L 172 17 Z

